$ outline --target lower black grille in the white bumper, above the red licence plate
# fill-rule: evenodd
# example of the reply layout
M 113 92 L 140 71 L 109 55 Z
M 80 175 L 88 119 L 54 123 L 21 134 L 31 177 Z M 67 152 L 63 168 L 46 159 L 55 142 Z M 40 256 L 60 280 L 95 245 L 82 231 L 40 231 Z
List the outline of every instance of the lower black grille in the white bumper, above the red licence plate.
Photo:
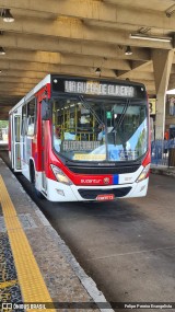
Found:
M 110 189 L 78 189 L 81 197 L 84 199 L 95 199 L 98 195 L 114 194 L 115 197 L 124 197 L 131 190 L 131 187 L 120 187 Z

